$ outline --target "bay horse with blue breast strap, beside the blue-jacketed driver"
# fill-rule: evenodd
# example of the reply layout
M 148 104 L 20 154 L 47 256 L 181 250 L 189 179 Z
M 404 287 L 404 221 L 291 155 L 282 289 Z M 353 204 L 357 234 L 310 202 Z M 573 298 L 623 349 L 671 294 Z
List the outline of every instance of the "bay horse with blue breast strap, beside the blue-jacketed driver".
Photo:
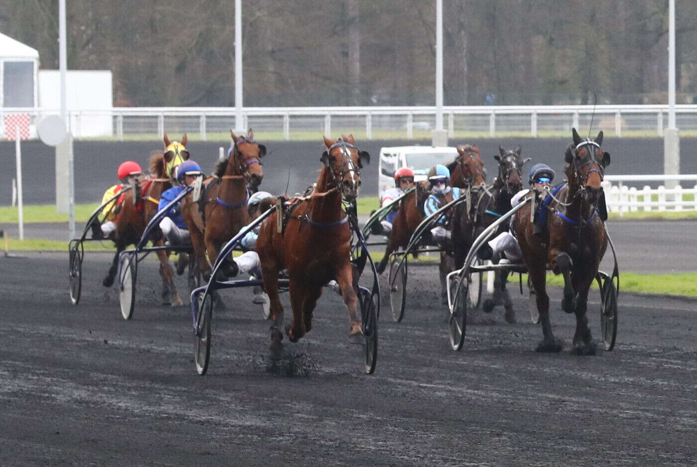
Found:
M 215 176 L 204 181 L 208 187 L 205 192 L 201 191 L 201 197 L 205 197 L 204 216 L 201 217 L 199 205 L 192 201 L 192 194 L 182 201 L 181 212 L 204 277 L 210 274 L 210 264 L 215 262 L 222 245 L 249 224 L 247 186 L 256 190 L 263 178 L 259 159 L 266 155 L 266 146 L 254 141 L 251 129 L 246 137 L 237 137 L 232 131 L 230 134 L 234 144 L 228 151 L 228 158 L 218 162 Z

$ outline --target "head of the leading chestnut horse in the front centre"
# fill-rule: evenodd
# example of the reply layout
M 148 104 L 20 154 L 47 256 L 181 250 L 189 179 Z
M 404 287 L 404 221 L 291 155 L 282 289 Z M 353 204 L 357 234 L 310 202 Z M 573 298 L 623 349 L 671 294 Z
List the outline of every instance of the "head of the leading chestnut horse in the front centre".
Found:
M 360 169 L 370 162 L 370 154 L 360 151 L 353 146 L 353 135 L 342 135 L 337 141 L 324 138 L 327 150 L 320 158 L 325 169 L 330 172 L 330 179 L 325 180 L 324 190 L 339 187 L 342 197 L 347 201 L 353 201 L 358 197 L 360 189 Z M 318 189 L 320 184 L 318 183 Z

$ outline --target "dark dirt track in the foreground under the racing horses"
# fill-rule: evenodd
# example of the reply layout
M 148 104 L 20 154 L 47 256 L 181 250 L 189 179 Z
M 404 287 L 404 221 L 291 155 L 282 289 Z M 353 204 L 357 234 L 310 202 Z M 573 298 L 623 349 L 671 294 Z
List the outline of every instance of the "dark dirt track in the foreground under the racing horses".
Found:
M 158 305 L 155 263 L 139 272 L 132 321 L 84 263 L 70 305 L 67 255 L 0 258 L 0 465 L 694 465 L 697 303 L 620 295 L 614 351 L 569 354 L 574 319 L 552 299 L 565 342 L 541 337 L 516 301 L 476 314 L 450 351 L 436 268 L 410 268 L 404 322 L 381 312 L 378 367 L 325 291 L 312 332 L 266 356 L 268 323 L 250 291 L 214 314 L 208 374 L 197 376 L 187 308 Z M 418 280 L 417 280 L 418 278 Z M 183 290 L 183 282 L 180 289 Z M 384 283 L 384 281 L 383 281 Z M 591 329 L 599 335 L 597 292 Z M 287 298 L 284 298 L 287 304 Z M 286 307 L 286 316 L 289 309 Z

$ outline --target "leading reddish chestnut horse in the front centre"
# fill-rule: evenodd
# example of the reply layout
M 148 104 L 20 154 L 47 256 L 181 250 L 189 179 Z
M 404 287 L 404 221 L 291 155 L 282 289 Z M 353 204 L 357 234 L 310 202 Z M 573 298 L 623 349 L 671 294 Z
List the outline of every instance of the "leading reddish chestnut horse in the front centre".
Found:
M 338 141 L 324 138 L 326 151 L 315 190 L 285 213 L 276 211 L 261 225 L 256 252 L 261 260 L 264 289 L 270 298 L 271 349 L 283 339 L 283 306 L 278 296 L 278 273 L 288 270 L 293 324 L 286 326 L 291 342 L 312 328 L 312 312 L 322 287 L 334 279 L 348 307 L 349 337 L 361 335 L 358 298 L 351 265 L 351 226 L 342 209 L 342 198 L 352 201 L 360 188 L 360 169 L 370 162 L 366 151 L 354 146 L 353 135 Z M 279 232 L 277 216 L 287 224 Z M 358 277 L 355 277 L 358 280 Z

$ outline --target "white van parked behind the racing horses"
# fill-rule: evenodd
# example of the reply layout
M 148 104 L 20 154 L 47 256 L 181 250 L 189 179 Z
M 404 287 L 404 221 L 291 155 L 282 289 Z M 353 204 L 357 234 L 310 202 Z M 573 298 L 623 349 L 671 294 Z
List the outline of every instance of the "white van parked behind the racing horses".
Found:
M 457 148 L 450 146 L 395 146 L 380 149 L 378 196 L 395 186 L 395 172 L 401 167 L 414 171 L 415 181 L 426 180 L 429 169 L 457 157 Z

